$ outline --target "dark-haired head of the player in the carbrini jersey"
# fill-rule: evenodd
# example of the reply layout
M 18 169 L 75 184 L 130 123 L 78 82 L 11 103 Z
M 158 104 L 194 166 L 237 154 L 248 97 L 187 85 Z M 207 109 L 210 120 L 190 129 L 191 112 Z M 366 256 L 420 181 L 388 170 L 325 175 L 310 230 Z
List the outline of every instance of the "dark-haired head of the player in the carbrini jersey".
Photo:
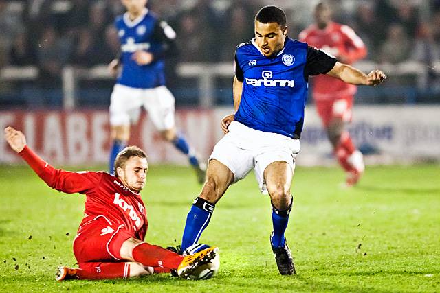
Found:
M 265 6 L 255 16 L 255 41 L 267 57 L 278 54 L 287 36 L 286 14 L 276 6 Z

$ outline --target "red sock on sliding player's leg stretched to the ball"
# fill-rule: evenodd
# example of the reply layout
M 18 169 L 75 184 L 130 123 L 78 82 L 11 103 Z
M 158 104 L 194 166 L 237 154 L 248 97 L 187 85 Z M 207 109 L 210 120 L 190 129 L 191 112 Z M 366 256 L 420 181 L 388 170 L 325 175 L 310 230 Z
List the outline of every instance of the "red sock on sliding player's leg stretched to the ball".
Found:
M 157 245 L 141 243 L 133 248 L 133 259 L 144 266 L 177 269 L 184 257 Z

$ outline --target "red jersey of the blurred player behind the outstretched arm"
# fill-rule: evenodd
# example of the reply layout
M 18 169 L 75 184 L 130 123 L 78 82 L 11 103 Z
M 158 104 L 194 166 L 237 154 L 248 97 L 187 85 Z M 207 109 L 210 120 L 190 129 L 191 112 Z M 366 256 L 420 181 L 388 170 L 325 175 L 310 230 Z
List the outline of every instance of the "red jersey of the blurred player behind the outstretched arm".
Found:
M 344 63 L 351 64 L 366 56 L 364 42 L 347 25 L 329 23 L 324 30 L 317 25 L 310 25 L 299 36 L 302 42 L 329 53 L 336 58 L 344 58 Z M 314 77 L 313 96 L 316 100 L 336 99 L 347 95 L 354 95 L 356 86 L 332 78 L 329 75 Z

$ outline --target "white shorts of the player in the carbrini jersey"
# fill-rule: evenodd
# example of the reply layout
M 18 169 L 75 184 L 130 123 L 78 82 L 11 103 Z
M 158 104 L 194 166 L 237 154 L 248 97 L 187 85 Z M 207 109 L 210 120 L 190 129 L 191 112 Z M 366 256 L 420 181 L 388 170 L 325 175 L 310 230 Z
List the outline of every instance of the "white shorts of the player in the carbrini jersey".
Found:
M 285 161 L 295 169 L 300 141 L 285 135 L 263 132 L 232 121 L 229 132 L 215 146 L 210 159 L 216 159 L 234 174 L 234 183 L 254 169 L 262 193 L 267 193 L 264 170 L 276 161 Z

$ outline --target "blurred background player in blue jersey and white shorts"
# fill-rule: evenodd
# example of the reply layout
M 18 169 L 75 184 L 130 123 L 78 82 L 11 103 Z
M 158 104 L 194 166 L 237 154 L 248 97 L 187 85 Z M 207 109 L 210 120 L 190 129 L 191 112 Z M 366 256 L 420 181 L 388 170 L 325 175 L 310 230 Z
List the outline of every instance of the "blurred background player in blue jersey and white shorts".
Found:
M 199 183 L 205 180 L 206 164 L 200 162 L 185 137 L 175 128 L 175 98 L 165 86 L 164 61 L 175 54 L 176 34 L 165 21 L 149 11 L 147 0 L 122 0 L 127 12 L 115 21 L 121 43 L 121 56 L 109 64 L 116 75 L 122 71 L 113 88 L 110 102 L 110 125 L 113 146 L 109 169 L 113 174 L 116 155 L 126 147 L 130 125 L 137 122 L 140 108 L 148 116 L 166 141 L 170 141 L 188 156 Z

